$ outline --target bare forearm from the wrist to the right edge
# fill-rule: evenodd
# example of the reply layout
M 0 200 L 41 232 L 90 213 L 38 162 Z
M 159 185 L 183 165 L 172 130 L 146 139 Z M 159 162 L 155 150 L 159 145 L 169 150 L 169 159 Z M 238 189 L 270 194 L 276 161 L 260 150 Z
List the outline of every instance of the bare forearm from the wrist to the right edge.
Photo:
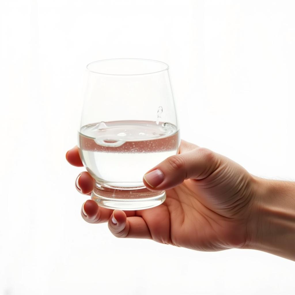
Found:
M 295 261 L 295 182 L 257 178 L 246 248 Z

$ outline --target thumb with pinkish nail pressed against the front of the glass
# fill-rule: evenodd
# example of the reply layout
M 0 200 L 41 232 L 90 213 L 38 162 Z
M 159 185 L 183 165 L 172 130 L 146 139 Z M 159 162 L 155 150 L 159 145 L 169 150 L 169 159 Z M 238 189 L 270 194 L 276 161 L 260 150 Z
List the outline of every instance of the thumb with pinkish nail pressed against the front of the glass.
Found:
M 207 148 L 195 148 L 167 158 L 148 171 L 143 182 L 151 190 L 171 189 L 185 179 L 208 177 L 219 167 L 221 160 L 221 155 Z

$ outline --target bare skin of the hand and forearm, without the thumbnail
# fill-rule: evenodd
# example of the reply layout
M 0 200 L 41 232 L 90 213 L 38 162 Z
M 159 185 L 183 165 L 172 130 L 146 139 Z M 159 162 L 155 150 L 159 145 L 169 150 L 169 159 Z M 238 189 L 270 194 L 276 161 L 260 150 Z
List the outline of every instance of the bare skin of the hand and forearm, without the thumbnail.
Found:
M 66 159 L 74 166 L 83 166 L 77 147 L 67 152 Z M 89 223 L 108 222 L 116 237 L 147 238 L 201 251 L 252 248 L 295 260 L 295 217 L 292 210 L 286 217 L 283 209 L 294 206 L 295 212 L 294 183 L 284 182 L 282 186 L 278 181 L 255 177 L 234 161 L 183 140 L 179 154 L 150 171 L 155 169 L 162 171 L 164 181 L 156 187 L 145 178 L 143 182 L 150 190 L 166 190 L 163 204 L 121 211 L 87 200 L 81 208 L 83 219 Z M 93 187 L 89 173 L 80 173 L 77 190 L 90 195 Z M 284 201 L 277 212 L 273 208 L 279 207 L 276 202 L 280 194 Z M 282 232 L 291 245 L 279 245 L 272 237 L 276 234 L 283 239 Z

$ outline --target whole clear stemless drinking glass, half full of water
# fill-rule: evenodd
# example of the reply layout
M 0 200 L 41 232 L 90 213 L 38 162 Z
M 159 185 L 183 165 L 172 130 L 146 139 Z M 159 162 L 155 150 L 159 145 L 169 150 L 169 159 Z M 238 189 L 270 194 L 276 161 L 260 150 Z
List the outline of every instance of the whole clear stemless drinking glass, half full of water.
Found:
M 165 201 L 150 191 L 146 172 L 180 144 L 168 65 L 156 60 L 110 59 L 87 65 L 78 146 L 95 179 L 91 198 L 100 206 L 148 209 Z

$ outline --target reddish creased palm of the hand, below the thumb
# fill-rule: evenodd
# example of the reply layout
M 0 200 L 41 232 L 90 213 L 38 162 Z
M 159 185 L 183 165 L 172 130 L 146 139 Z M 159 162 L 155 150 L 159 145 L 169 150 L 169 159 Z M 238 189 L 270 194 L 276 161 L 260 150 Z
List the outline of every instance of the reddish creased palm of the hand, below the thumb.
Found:
M 245 219 L 218 214 L 202 203 L 197 184 L 185 180 L 167 190 L 166 201 L 155 208 L 137 211 L 158 242 L 203 251 L 241 246 L 245 241 Z M 216 210 L 218 211 L 218 210 Z

